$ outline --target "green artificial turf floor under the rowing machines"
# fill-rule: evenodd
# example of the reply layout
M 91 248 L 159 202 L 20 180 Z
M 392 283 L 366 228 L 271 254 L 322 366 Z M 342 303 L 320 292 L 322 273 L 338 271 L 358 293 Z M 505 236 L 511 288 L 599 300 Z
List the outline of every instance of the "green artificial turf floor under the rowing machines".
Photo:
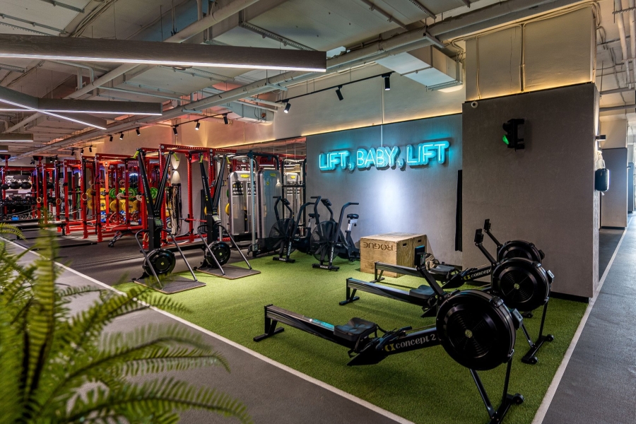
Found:
M 386 330 L 434 323 L 433 318 L 421 318 L 416 305 L 370 293 L 358 292 L 360 300 L 340 306 L 346 278 L 369 281 L 372 276 L 360 273 L 357 262 L 338 259 L 340 271 L 329 272 L 312 269 L 313 257 L 298 252 L 293 257 L 297 259 L 295 264 L 272 261 L 271 257 L 254 259 L 252 266 L 261 273 L 237 280 L 198 273 L 206 287 L 171 296 L 189 307 L 190 312 L 180 314 L 189 322 L 415 423 L 488 422 L 469 370 L 454 363 L 441 346 L 393 355 L 377 365 L 348 367 L 346 348 L 298 329 L 285 328 L 283 333 L 259 343 L 252 341 L 264 331 L 263 307 L 270 303 L 335 325 L 345 324 L 352 317 L 376 322 Z M 417 287 L 423 280 L 403 276 L 385 282 Z M 132 286 L 126 283 L 117 288 Z M 546 330 L 554 334 L 555 341 L 541 348 L 536 365 L 521 362 L 528 344 L 518 332 L 509 392 L 523 394 L 526 400 L 512 406 L 506 423 L 531 423 L 585 308 L 579 302 L 550 300 Z M 538 312 L 536 317 L 524 320 L 533 336 L 538 334 Z M 480 374 L 493 404 L 498 406 L 505 365 Z

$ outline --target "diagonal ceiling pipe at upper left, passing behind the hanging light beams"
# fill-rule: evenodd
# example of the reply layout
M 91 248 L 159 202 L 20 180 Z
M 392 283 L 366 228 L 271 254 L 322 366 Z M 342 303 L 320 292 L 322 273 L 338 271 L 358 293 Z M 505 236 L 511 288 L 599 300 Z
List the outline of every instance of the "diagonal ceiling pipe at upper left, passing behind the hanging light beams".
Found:
M 242 11 L 244 8 L 247 8 L 248 6 L 251 6 L 252 4 L 257 3 L 257 1 L 259 0 L 232 1 L 232 3 L 228 4 L 227 6 L 223 6 L 219 8 L 217 11 L 215 11 L 211 15 L 208 15 L 205 18 L 201 20 L 197 20 L 195 23 L 188 25 L 179 33 L 172 35 L 172 37 L 170 38 L 167 38 L 165 42 L 184 42 L 185 40 L 191 37 L 194 37 L 194 35 L 201 33 L 206 28 L 211 27 L 213 24 L 218 23 L 221 20 L 224 20 L 225 18 L 229 18 L 230 16 L 235 15 L 236 13 Z M 93 81 L 93 83 L 86 84 L 84 88 L 82 88 L 81 90 L 77 90 L 75 93 L 71 93 L 70 95 L 66 96 L 66 98 L 71 98 L 71 99 L 79 98 L 80 96 L 85 95 L 86 93 L 89 93 L 95 88 L 99 88 L 100 86 L 103 86 L 105 83 L 109 83 L 110 81 L 114 80 L 114 78 L 117 78 L 118 76 L 122 76 L 126 72 L 132 71 L 136 66 L 137 66 L 136 64 L 123 64 L 123 65 L 117 66 L 117 68 L 100 76 L 100 78 Z M 4 132 L 16 131 L 16 129 L 22 128 L 29 122 L 33 122 L 35 121 L 35 119 L 41 116 L 42 114 L 35 113 L 31 115 L 30 117 L 23 119 L 18 124 L 10 126 Z

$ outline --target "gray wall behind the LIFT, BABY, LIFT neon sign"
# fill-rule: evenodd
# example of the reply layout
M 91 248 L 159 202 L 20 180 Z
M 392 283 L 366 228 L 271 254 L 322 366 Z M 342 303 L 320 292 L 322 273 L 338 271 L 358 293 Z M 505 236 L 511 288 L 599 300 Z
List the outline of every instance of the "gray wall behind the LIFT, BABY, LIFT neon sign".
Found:
M 399 146 L 424 141 L 449 141 L 445 163 L 420 167 L 369 170 L 319 170 L 319 154 L 358 148 Z M 358 201 L 350 211 L 359 213 L 353 239 L 384 232 L 417 232 L 428 235 L 429 251 L 443 261 L 461 264 L 454 250 L 457 172 L 461 169 L 461 115 L 418 119 L 384 126 L 307 136 L 307 199 L 327 197 L 340 212 L 347 201 Z M 321 219 L 327 217 L 321 209 Z M 336 217 L 337 219 L 337 217 Z

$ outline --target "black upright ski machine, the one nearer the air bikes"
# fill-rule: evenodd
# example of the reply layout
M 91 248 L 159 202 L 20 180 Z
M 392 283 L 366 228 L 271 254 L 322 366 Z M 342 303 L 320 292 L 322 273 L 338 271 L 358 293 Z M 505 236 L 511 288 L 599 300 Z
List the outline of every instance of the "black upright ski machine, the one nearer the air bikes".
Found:
M 199 266 L 196 270 L 231 279 L 260 273 L 260 271 L 252 270 L 252 265 L 250 265 L 249 261 L 247 261 L 245 254 L 243 254 L 240 247 L 238 247 L 230 235 L 230 232 L 221 225 L 220 218 L 218 217 L 218 201 L 220 199 L 223 178 L 225 177 L 225 160 L 227 160 L 227 155 L 224 155 L 223 160 L 221 160 L 223 165 L 221 165 L 218 170 L 213 197 L 210 197 L 210 180 L 208 179 L 208 173 L 206 172 L 206 166 L 203 160 L 204 155 L 201 153 L 199 154 L 199 166 L 201 167 L 201 182 L 203 187 L 202 197 L 203 204 L 205 206 L 206 223 L 199 225 L 196 232 L 199 233 L 199 237 L 203 242 L 202 248 L 204 249 L 204 260 L 201 266 Z M 210 158 L 210 160 L 212 160 L 212 158 Z M 206 235 L 206 239 L 204 239 L 204 234 Z M 223 241 L 223 235 L 225 234 L 228 235 L 230 243 L 235 249 L 237 249 L 243 258 L 243 261 L 245 261 L 245 264 L 247 264 L 247 267 L 249 268 L 249 270 L 244 270 L 242 268 L 232 266 L 231 277 L 228 276 L 228 273 L 225 272 L 226 270 L 223 269 L 223 265 L 227 264 L 230 260 L 231 252 L 230 245 Z M 239 275 L 235 272 L 236 270 L 240 273 Z M 245 271 L 249 272 L 245 274 Z

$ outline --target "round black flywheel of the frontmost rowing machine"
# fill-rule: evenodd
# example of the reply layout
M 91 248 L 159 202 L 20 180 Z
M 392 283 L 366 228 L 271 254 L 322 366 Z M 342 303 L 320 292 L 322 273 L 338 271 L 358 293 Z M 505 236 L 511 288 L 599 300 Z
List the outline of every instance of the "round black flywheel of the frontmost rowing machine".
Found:
M 437 312 L 444 350 L 471 370 L 492 370 L 512 357 L 515 319 L 496 296 L 481 290 L 450 295 Z

